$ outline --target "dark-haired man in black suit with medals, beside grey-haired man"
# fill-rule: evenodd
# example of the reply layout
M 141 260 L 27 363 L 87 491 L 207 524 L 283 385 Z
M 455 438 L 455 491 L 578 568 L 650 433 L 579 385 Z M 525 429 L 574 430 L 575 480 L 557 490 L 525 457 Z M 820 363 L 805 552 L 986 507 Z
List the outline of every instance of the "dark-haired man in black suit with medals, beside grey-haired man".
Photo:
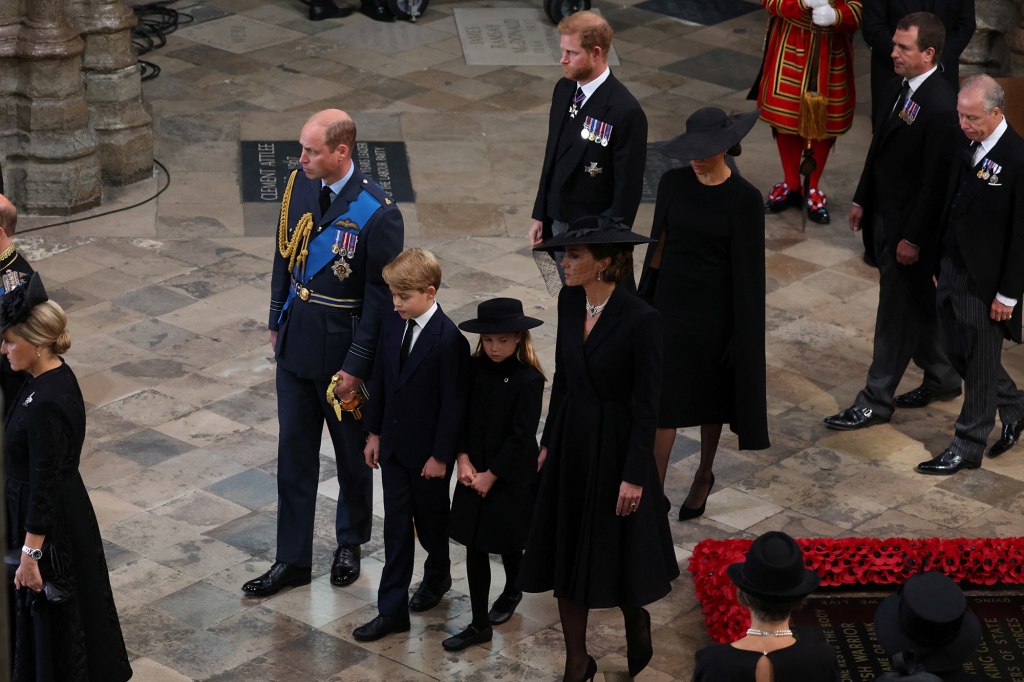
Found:
M 876 227 L 874 352 L 853 407 L 824 420 L 834 429 L 881 424 L 895 407 L 921 408 L 961 394 L 959 376 L 939 337 L 932 283 L 949 167 L 967 145 L 956 129 L 956 93 L 936 63 L 943 34 L 935 14 L 916 12 L 900 19 L 892 39 L 901 78 L 885 90 L 889 105 L 876 122 L 850 209 L 853 230 L 865 219 Z M 911 358 L 925 371 L 924 383 L 894 398 Z

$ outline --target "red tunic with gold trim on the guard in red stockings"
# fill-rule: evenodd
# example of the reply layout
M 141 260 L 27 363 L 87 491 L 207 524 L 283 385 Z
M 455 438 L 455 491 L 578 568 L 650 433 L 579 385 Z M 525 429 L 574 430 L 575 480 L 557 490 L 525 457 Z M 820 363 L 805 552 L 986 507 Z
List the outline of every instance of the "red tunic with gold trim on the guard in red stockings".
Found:
M 816 32 L 811 10 L 801 0 L 761 0 L 772 15 L 758 92 L 763 121 L 781 132 L 797 133 L 812 41 L 820 40 L 817 91 L 828 100 L 825 129 L 829 137 L 850 129 L 856 105 L 851 37 L 860 28 L 861 4 L 861 0 L 834 0 L 836 24 Z

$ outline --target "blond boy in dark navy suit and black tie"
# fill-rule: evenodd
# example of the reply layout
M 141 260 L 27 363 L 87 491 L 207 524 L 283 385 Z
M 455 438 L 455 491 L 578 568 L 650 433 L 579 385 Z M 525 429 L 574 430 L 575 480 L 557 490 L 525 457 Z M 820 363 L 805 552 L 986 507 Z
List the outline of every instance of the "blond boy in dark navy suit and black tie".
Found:
M 441 268 L 422 249 L 407 249 L 384 267 L 395 314 L 381 326 L 364 424 L 367 465 L 384 486 L 384 571 L 380 614 L 352 636 L 372 642 L 409 630 L 409 611 L 433 608 L 452 587 L 449 480 L 465 411 L 469 343 L 434 296 Z M 427 551 L 413 598 L 415 530 Z

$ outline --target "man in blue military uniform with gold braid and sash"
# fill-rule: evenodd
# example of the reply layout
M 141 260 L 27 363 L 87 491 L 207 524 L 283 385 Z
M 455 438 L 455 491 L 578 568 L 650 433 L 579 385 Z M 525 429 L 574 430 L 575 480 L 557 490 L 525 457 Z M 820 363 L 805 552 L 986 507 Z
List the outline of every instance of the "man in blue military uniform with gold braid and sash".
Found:
M 338 466 L 338 549 L 331 584 L 359 576 L 370 540 L 373 478 L 366 436 L 351 415 L 339 420 L 328 386 L 348 399 L 370 378 L 381 318 L 391 298 L 381 270 L 401 251 L 404 227 L 394 201 L 352 163 L 355 124 L 347 114 L 314 114 L 299 137 L 301 167 L 282 203 L 270 283 L 270 347 L 278 359 L 278 553 L 242 589 L 263 596 L 309 583 L 313 513 L 324 422 Z

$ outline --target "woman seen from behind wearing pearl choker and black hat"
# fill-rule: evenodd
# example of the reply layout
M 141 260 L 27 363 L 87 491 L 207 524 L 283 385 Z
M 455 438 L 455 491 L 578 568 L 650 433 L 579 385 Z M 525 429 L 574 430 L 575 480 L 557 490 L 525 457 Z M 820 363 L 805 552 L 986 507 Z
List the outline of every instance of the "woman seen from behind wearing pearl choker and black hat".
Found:
M 790 627 L 791 614 L 819 582 L 817 573 L 804 567 L 797 541 L 784 532 L 766 532 L 751 544 L 746 560 L 727 571 L 736 585 L 736 599 L 751 611 L 751 627 L 731 644 L 697 651 L 692 682 L 839 682 L 836 650 L 824 639 L 797 639 Z

